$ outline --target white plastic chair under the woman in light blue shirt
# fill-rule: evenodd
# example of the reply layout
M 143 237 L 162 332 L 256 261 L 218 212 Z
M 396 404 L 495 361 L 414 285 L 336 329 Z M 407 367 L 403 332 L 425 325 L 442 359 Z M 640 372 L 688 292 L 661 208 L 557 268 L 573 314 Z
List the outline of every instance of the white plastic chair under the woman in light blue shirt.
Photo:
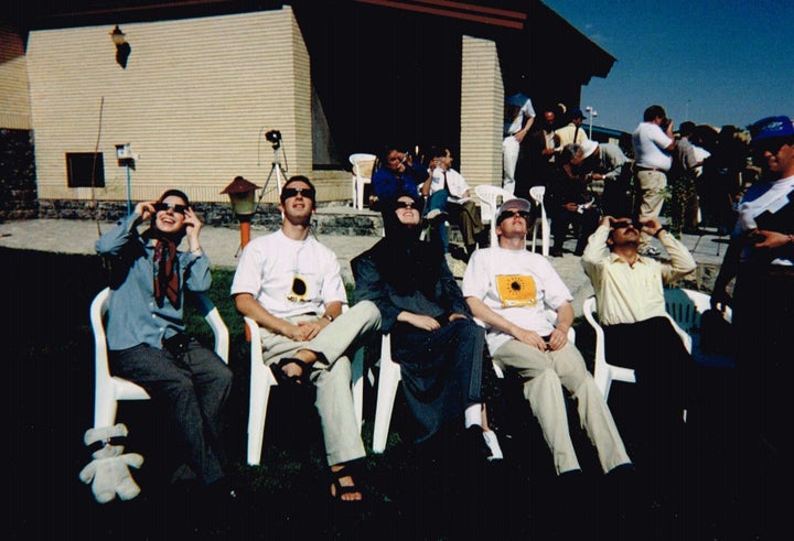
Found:
M 196 295 L 198 311 L 206 318 L 215 335 L 215 353 L 228 364 L 228 329 L 217 309 L 205 295 Z M 149 400 L 149 393 L 132 381 L 111 376 L 108 367 L 105 314 L 110 300 L 110 289 L 101 290 L 90 305 L 90 324 L 94 332 L 94 364 L 96 372 L 94 394 L 94 428 L 111 426 L 116 423 L 119 400 Z

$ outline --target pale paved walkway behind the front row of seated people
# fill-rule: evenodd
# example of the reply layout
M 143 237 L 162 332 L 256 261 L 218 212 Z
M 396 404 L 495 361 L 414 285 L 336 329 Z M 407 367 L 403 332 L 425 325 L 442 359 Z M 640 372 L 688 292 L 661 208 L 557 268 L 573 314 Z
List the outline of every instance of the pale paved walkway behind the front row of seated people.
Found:
M 77 219 L 33 219 L 7 221 L 0 224 L 0 247 L 51 251 L 60 253 L 95 253 L 94 242 L 100 234 L 114 227 L 109 221 L 88 221 Z M 256 238 L 270 232 L 265 228 L 254 227 L 251 237 Z M 318 235 L 318 239 L 331 248 L 340 259 L 343 278 L 352 281 L 350 260 L 371 248 L 378 241 L 376 236 Z M 239 251 L 239 229 L 237 227 L 204 226 L 201 241 L 214 267 L 235 269 Z M 684 244 L 699 263 L 698 275 L 694 279 L 696 289 L 710 290 L 716 270 L 722 262 L 727 245 L 713 235 L 684 236 Z M 582 271 L 579 258 L 573 256 L 576 241 L 566 241 L 566 255 L 550 258 L 557 272 L 573 294 L 573 307 L 581 314 L 584 299 L 592 294 L 592 286 Z M 450 266 L 458 278 L 462 278 L 465 269 L 463 263 L 449 259 Z

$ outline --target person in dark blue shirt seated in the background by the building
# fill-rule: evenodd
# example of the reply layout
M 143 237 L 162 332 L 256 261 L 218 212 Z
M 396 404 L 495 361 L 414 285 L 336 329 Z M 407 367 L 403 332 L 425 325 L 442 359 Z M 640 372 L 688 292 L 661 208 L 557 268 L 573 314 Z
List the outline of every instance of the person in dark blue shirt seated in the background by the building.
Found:
M 398 194 L 411 194 L 418 198 L 420 186 L 430 180 L 427 165 L 419 160 L 415 162 L 410 152 L 386 147 L 378 156 L 377 169 L 373 173 L 374 201 L 371 202 L 371 207 L 388 205 L 397 199 Z

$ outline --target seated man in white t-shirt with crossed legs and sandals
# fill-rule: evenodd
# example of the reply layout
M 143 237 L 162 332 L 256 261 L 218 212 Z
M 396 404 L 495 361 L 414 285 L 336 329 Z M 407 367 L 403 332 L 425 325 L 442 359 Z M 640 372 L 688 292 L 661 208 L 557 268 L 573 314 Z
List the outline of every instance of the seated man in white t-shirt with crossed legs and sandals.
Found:
M 316 387 L 331 495 L 361 500 L 348 466 L 365 452 L 345 354 L 379 328 L 380 313 L 369 301 L 342 312 L 347 295 L 336 256 L 309 235 L 316 201 L 309 178 L 289 178 L 280 201 L 281 229 L 245 247 L 232 295 L 239 313 L 259 324 L 262 357 L 279 383 Z

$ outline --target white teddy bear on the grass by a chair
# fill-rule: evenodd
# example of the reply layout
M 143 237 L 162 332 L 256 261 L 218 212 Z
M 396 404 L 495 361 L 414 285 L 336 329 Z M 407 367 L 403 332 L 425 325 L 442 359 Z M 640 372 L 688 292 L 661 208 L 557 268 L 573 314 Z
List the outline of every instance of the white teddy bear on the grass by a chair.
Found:
M 128 466 L 140 468 L 143 457 L 138 453 L 124 453 L 124 445 L 111 445 L 110 439 L 126 437 L 127 426 L 119 423 L 115 426 L 88 429 L 85 433 L 85 444 L 92 445 L 100 442 L 99 451 L 92 454 L 94 458 L 79 473 L 79 478 L 86 485 L 94 482 L 92 491 L 99 504 L 107 504 L 118 494 L 122 500 L 129 500 L 140 494 L 140 487 L 132 479 Z

